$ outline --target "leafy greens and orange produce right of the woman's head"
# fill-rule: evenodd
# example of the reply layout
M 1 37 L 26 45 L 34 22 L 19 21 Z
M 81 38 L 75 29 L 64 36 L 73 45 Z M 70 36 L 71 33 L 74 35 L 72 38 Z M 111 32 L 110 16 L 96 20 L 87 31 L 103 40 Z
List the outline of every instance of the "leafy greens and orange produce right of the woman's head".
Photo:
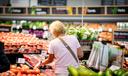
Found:
M 76 35 L 79 40 L 95 40 L 97 36 L 112 41 L 112 31 L 117 29 L 115 23 L 85 23 L 84 26 L 67 24 L 66 32 Z

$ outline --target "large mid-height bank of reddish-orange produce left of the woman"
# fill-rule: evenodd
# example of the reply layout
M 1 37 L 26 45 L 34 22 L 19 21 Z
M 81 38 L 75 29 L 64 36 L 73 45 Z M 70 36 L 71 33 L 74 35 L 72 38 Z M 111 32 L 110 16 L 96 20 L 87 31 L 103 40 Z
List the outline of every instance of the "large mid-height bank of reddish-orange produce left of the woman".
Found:
M 48 42 L 30 34 L 1 32 L 0 41 L 4 42 L 7 53 L 40 53 L 48 48 Z

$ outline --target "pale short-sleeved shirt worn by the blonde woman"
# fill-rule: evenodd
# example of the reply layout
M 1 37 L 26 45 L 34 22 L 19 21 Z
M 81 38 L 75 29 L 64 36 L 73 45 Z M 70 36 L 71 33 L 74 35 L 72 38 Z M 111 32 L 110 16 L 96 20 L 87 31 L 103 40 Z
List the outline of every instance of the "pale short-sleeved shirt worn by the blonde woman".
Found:
M 63 40 L 70 46 L 72 51 L 77 56 L 77 48 L 80 47 L 77 38 L 75 36 L 68 35 L 64 36 Z M 55 56 L 55 73 L 68 73 L 67 67 L 69 65 L 78 67 L 78 63 L 58 38 L 50 42 L 48 53 L 54 54 Z

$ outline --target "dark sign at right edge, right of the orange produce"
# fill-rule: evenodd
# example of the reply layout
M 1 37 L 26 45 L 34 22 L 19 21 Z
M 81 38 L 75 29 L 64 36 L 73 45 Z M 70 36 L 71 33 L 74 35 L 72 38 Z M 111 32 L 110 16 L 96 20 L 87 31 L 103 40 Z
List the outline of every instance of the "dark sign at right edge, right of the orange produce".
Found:
M 128 41 L 128 31 L 114 31 L 115 41 Z

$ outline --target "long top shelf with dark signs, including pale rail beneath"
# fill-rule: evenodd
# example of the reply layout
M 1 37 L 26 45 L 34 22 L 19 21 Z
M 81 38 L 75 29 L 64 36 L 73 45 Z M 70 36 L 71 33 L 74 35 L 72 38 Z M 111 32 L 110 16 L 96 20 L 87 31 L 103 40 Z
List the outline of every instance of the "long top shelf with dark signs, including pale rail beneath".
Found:
M 116 8 L 116 9 L 113 9 Z M 10 12 L 9 12 L 10 9 Z M 128 21 L 128 6 L 0 6 L 1 20 Z M 115 10 L 115 11 L 113 11 Z M 13 12 L 12 12 L 13 11 Z M 120 13 L 121 12 L 121 13 Z M 123 12 L 123 13 L 122 13 Z

